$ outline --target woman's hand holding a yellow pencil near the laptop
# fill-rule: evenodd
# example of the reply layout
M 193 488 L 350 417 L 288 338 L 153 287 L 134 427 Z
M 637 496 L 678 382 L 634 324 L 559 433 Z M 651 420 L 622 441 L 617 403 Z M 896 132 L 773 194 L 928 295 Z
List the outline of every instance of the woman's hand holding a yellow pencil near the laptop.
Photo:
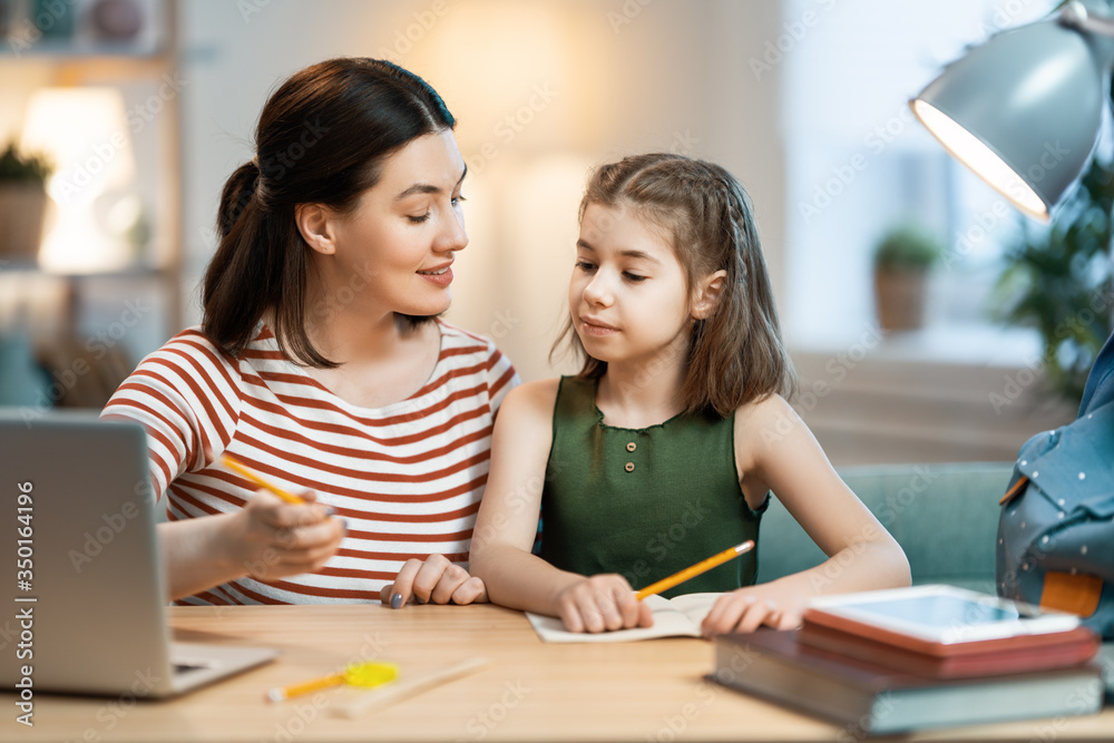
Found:
M 241 575 L 271 581 L 313 573 L 336 554 L 344 521 L 315 502 L 315 493 L 301 497 L 306 504 L 286 504 L 260 489 L 231 516 L 223 541 Z

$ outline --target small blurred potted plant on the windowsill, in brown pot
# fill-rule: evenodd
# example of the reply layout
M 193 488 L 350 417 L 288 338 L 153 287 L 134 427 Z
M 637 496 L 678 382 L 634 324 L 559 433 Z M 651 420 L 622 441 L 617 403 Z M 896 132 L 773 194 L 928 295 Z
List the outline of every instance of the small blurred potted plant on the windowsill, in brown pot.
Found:
M 874 309 L 885 331 L 925 324 L 928 274 L 940 258 L 939 241 L 918 225 L 890 229 L 874 248 Z

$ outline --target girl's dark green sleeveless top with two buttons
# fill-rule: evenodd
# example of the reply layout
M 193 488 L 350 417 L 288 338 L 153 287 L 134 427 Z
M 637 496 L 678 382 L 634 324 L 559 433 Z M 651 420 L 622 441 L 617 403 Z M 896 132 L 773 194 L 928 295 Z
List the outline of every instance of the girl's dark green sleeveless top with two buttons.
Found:
M 561 378 L 541 493 L 540 557 L 582 575 L 618 573 L 634 588 L 746 539 L 759 510 L 735 470 L 734 416 L 676 416 L 644 429 L 607 426 L 595 381 Z M 665 592 L 754 583 L 758 549 Z

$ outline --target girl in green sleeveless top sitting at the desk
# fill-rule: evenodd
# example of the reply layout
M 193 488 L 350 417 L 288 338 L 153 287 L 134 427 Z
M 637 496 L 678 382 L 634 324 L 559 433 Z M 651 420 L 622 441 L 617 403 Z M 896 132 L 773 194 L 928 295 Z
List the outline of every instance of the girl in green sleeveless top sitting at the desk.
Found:
M 726 170 L 664 154 L 599 168 L 568 302 L 580 373 L 516 389 L 496 426 L 471 563 L 492 602 L 571 632 L 646 626 L 632 586 L 756 539 L 770 490 L 830 559 L 751 586 L 752 551 L 682 584 L 731 592 L 705 634 L 793 627 L 810 596 L 909 584 L 901 548 L 781 397 L 792 369 Z

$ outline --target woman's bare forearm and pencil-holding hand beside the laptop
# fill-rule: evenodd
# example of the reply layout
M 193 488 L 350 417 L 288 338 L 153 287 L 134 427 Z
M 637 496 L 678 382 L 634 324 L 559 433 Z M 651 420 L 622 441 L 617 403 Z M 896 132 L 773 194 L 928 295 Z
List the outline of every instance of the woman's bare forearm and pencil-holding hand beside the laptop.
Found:
M 170 600 L 248 575 L 276 580 L 321 568 L 340 547 L 344 522 L 302 493 L 304 506 L 260 490 L 233 514 L 158 525 Z

